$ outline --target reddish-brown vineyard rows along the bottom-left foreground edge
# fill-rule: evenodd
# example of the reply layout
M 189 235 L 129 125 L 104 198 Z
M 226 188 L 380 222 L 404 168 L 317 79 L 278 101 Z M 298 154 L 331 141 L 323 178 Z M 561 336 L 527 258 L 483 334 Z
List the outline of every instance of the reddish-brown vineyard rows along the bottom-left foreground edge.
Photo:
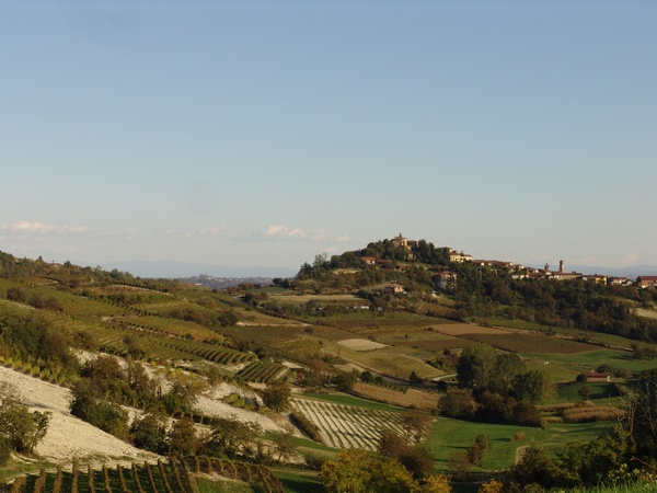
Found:
M 38 475 L 19 477 L 11 493 L 198 493 L 194 473 L 204 473 L 257 485 L 258 491 L 283 493 L 283 485 L 269 469 L 230 460 L 189 457 L 185 462 L 143 462 L 131 466 L 88 466 L 81 470 L 73 463 L 71 471 L 41 470 Z

